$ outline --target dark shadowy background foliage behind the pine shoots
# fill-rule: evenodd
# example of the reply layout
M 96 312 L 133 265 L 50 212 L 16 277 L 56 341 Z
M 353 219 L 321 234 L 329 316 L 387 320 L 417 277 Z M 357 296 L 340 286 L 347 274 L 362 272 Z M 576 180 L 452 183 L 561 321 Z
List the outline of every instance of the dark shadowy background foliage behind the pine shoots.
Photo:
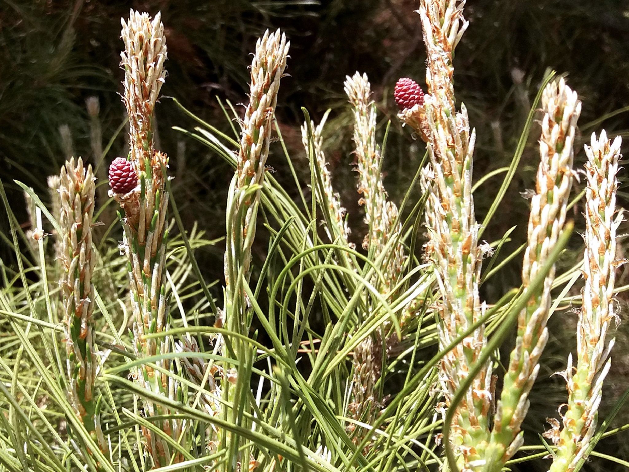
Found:
M 235 105 L 247 102 L 247 65 L 255 40 L 266 28 L 282 28 L 291 40 L 289 77 L 282 81 L 277 111 L 282 136 L 299 176 L 305 176 L 308 165 L 299 135 L 300 108 L 305 106 L 315 120 L 332 109 L 326 151 L 350 224 L 356 228 L 353 237 L 360 242 L 362 215 L 350 166 L 351 124 L 343 80 L 355 70 L 367 72 L 381 113 L 380 132 L 392 121 L 385 184 L 391 198 L 399 201 L 424 150 L 400 126 L 392 103 L 392 86 L 398 77 L 423 82 L 425 53 L 419 17 L 413 13 L 417 6 L 414 0 L 0 0 L 0 178 L 19 223 L 27 225 L 28 220 L 23 194 L 13 179 L 33 186 L 47 199 L 46 177 L 58 172 L 68 148 L 67 144 L 64 148 L 60 126 L 69 127 L 72 152 L 94 162 L 86 98 L 99 99 L 103 145 L 112 140 L 106 162 L 125 152 L 124 130 L 116 135 L 125 119 L 119 96 L 123 76 L 119 19 L 135 8 L 151 14 L 161 11 L 166 27 L 168 77 L 157 108 L 159 142 L 171 156 L 174 197 L 186 225 L 198 222 L 211 238 L 223 234 L 231 171 L 218 157 L 172 130 L 172 126 L 191 128 L 194 122 L 167 97 L 177 98 L 203 120 L 229 130 L 216 98 Z M 610 134 L 628 135 L 628 115 L 622 111 L 629 105 L 629 4 L 618 0 L 472 0 L 465 16 L 470 25 L 457 48 L 455 87 L 477 131 L 476 179 L 508 166 L 547 69 L 567 74 L 583 102 L 577 166 L 584 162 L 582 143 L 594 130 L 604 126 Z M 242 107 L 237 110 L 241 112 Z M 511 189 L 484 235 L 496 240 L 517 225 L 511 249 L 526 238 L 528 202 L 520 192 L 532 187 L 537 136 L 538 127 L 533 126 Z M 279 145 L 272 152 L 269 165 L 287 188 L 294 188 Z M 491 205 L 502 175 L 476 192 L 477 218 L 482 219 Z M 621 179 L 625 178 L 623 172 Z M 582 184 L 576 187 L 579 190 Z M 626 203 L 624 186 L 620 203 Z M 580 213 L 576 205 L 577 228 L 582 227 Z M 0 231 L 6 234 L 7 230 L 3 216 Z M 111 234 L 116 237 L 115 231 Z M 574 250 L 580 250 L 579 242 L 574 240 Z M 264 246 L 258 250 L 264 256 Z M 216 246 L 206 251 L 199 254 L 206 276 L 220 279 L 222 249 Z M 0 257 L 10 263 L 7 245 L 1 246 Z M 495 301 L 519 285 L 519 269 L 514 262 L 491 279 L 483 287 L 484 298 Z M 620 283 L 626 283 L 624 273 Z M 627 325 L 627 303 L 622 298 L 620 308 Z M 543 430 L 545 416 L 555 416 L 555 406 L 565 397 L 562 380 L 548 375 L 560 370 L 568 350 L 574 350 L 575 323 L 570 313 L 558 313 L 552 320 L 555 339 L 545 354 L 527 419 L 533 431 Z M 626 331 L 619 333 L 602 415 L 628 383 Z M 527 442 L 538 442 L 537 435 Z M 619 436 L 599 450 L 608 448 L 621 456 L 618 448 L 626 451 L 622 443 Z M 522 470 L 533 467 L 525 466 Z M 601 469 L 608 466 L 601 459 L 592 464 Z M 542 470 L 543 463 L 535 467 Z

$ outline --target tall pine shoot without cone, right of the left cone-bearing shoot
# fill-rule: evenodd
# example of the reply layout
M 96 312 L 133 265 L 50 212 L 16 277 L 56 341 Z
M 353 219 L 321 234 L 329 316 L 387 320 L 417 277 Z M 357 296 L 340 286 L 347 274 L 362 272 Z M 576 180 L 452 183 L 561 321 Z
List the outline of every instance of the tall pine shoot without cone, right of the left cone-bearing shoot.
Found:
M 236 171 L 231 179 L 227 201 L 226 217 L 226 250 L 225 250 L 225 308 L 224 319 L 219 317 L 214 323 L 217 327 L 225 327 L 235 334 L 249 335 L 250 318 L 247 317 L 248 299 L 245 296 L 243 283 L 250 277 L 251 252 L 255 238 L 257 211 L 260 205 L 260 188 L 264 184 L 265 164 L 269 157 L 271 131 L 277 106 L 281 78 L 286 69 L 286 60 L 291 43 L 286 36 L 277 30 L 275 33 L 265 31 L 255 45 L 255 53 L 251 64 L 251 83 L 249 104 L 245 110 L 242 123 L 240 151 L 237 157 Z M 249 320 L 249 321 L 248 321 Z M 219 347 L 225 357 L 235 359 L 242 368 L 252 362 L 250 346 L 242 339 L 233 337 L 220 338 Z M 226 396 L 232 408 L 222 408 L 223 419 L 233 424 L 238 422 L 238 388 L 241 371 L 237 364 L 226 362 L 223 368 L 221 393 Z M 244 380 L 247 381 L 247 380 Z M 240 451 L 238 435 L 225 430 L 219 432 L 221 447 L 228 450 L 225 469 L 244 467 L 253 459 L 243 458 Z

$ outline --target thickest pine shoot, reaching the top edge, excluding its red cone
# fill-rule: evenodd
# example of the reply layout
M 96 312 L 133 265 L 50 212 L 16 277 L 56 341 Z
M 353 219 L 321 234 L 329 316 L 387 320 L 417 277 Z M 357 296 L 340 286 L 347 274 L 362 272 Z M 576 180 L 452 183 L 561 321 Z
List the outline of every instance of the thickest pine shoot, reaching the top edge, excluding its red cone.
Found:
M 476 133 L 470 133 L 464 104 L 455 108 L 452 53 L 467 28 L 464 2 L 420 2 L 420 17 L 428 57 L 423 104 L 400 113 L 400 118 L 420 133 L 428 147 L 430 167 L 423 170 L 421 187 L 428 192 L 426 257 L 433 262 L 441 300 L 439 346 L 445 348 L 481 318 L 479 281 L 484 247 L 478 244 L 479 225 L 472 196 L 472 156 Z M 439 366 L 440 386 L 450 408 L 470 368 L 487 345 L 484 325 L 455 349 Z M 459 468 L 480 470 L 482 452 L 489 439 L 488 416 L 492 391 L 491 364 L 482 366 L 472 386 L 457 405 L 450 429 L 450 443 Z

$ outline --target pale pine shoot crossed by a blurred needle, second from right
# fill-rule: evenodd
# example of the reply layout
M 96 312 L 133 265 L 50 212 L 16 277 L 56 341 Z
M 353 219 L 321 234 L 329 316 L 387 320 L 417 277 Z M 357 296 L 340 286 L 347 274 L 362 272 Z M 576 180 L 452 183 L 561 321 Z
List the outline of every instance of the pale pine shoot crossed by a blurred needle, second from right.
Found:
M 544 89 L 542 110 L 541 162 L 528 220 L 528 246 L 522 267 L 524 288 L 535 279 L 563 232 L 572 186 L 572 146 L 581 101 L 564 79 L 560 79 Z M 548 340 L 546 325 L 554 279 L 553 266 L 544 279 L 543 287 L 532 296 L 518 317 L 518 336 L 504 374 L 503 391 L 496 405 L 491 432 L 491 446 L 486 452 L 487 471 L 499 472 L 523 444 L 521 424 L 528 411 L 528 394 L 539 371 L 538 362 Z

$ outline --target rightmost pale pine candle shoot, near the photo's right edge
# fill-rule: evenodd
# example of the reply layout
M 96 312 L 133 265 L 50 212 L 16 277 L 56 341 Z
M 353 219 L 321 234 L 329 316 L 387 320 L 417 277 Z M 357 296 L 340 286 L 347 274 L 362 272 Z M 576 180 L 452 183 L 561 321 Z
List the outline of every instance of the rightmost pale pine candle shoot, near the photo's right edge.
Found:
M 598 140 L 592 133 L 591 144 L 585 146 L 587 189 L 583 275 L 586 283 L 577 323 L 576 371 L 570 354 L 568 366 L 561 373 L 569 395 L 567 410 L 562 415 L 561 426 L 555 419 L 548 420 L 553 429 L 545 433 L 557 446 L 550 472 L 572 472 L 581 459 L 586 459 L 584 454 L 596 430 L 603 381 L 611 365 L 609 355 L 614 339 L 606 344 L 606 335 L 611 322 L 618 322 L 613 293 L 618 266 L 615 262 L 616 229 L 622 221 L 622 211 L 615 216 L 620 145 L 620 136 L 610 142 L 603 130 Z

